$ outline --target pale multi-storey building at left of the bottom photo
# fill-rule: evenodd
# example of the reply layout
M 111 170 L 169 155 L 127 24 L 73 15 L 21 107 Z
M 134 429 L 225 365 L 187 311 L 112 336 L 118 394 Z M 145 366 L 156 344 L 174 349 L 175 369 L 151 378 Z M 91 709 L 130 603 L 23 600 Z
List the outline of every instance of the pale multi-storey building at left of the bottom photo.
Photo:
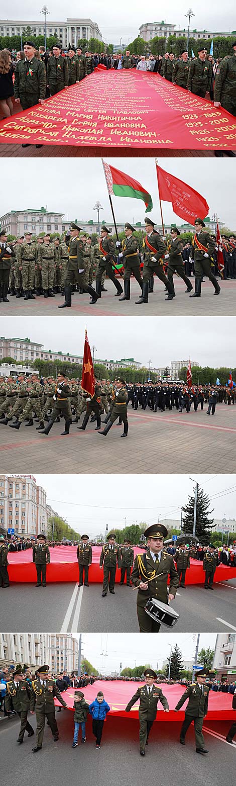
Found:
M 36 670 L 48 663 L 50 671 L 78 668 L 78 641 L 71 634 L 0 634 L 0 668 L 21 664 Z

